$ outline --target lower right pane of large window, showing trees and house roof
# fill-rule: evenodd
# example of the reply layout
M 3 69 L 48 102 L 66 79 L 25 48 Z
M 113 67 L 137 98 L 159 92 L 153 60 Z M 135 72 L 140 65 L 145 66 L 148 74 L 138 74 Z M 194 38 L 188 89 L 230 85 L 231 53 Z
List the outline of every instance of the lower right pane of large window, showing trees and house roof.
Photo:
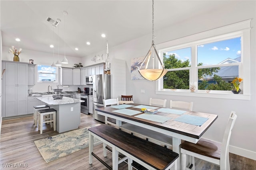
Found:
M 234 77 L 238 77 L 238 66 L 198 69 L 198 90 L 231 90 Z

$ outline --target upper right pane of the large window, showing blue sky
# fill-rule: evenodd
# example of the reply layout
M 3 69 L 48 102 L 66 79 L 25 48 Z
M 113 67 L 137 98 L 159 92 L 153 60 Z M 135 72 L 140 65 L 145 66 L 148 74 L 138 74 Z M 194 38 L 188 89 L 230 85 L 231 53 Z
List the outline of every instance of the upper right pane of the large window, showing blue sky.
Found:
M 241 62 L 241 37 L 198 45 L 197 61 L 198 66 Z

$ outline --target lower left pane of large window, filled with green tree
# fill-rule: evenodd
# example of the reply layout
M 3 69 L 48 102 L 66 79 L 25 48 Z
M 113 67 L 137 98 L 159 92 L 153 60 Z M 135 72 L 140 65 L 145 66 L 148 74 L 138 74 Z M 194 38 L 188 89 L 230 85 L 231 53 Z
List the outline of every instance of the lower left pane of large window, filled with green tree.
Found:
M 189 70 L 168 71 L 164 75 L 165 89 L 189 89 Z

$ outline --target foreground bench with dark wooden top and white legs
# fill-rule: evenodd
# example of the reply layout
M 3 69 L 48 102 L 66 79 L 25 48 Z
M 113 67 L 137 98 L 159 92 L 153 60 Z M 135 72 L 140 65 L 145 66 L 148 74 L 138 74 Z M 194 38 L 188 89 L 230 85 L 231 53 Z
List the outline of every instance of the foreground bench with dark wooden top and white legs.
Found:
M 89 128 L 89 164 L 92 164 L 92 156 L 98 159 L 108 169 L 117 170 L 118 164 L 128 160 L 128 170 L 132 170 L 132 160 L 138 162 L 147 169 L 165 170 L 173 165 L 177 170 L 178 154 L 170 149 L 156 145 L 110 125 L 100 125 Z M 112 168 L 93 153 L 93 139 L 96 137 L 103 142 L 103 152 L 106 156 L 106 145 L 112 147 Z M 126 158 L 118 161 L 118 154 Z

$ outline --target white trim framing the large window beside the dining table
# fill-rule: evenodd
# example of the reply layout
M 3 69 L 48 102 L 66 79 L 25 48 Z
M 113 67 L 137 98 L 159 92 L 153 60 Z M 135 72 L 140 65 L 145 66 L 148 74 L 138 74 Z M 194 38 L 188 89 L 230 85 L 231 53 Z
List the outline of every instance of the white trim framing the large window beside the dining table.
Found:
M 205 42 L 205 39 L 210 41 L 210 39 L 216 39 L 216 37 L 220 36 L 225 39 L 227 36 L 237 36 L 240 35 L 242 37 L 241 39 L 241 63 L 242 66 L 240 67 L 239 73 L 241 72 L 241 75 L 244 80 L 242 84 L 242 94 L 233 94 L 230 93 L 222 93 L 222 91 L 214 90 L 213 92 L 207 93 L 206 90 L 197 90 L 196 92 L 190 92 L 189 90 L 170 90 L 170 89 L 161 89 L 163 86 L 163 78 L 156 81 L 156 94 L 164 94 L 164 95 L 174 95 L 174 96 L 193 96 L 193 97 L 204 97 L 204 98 L 223 98 L 223 99 L 236 99 L 236 100 L 250 100 L 250 22 L 251 20 L 241 21 L 238 23 L 234 23 L 231 25 L 226 25 L 224 27 L 212 29 L 209 31 L 205 31 L 202 33 L 197 33 L 194 35 L 190 35 L 187 37 L 182 37 L 180 39 L 175 39 L 172 41 L 168 41 L 165 43 L 160 43 L 157 45 L 158 54 L 161 55 L 163 52 L 166 52 L 166 50 L 170 50 L 170 47 L 173 47 L 173 49 L 180 49 L 181 47 L 188 47 L 188 44 L 190 44 L 190 47 L 192 46 L 190 42 L 193 42 L 193 44 L 198 44 L 202 41 Z M 191 49 L 192 54 L 194 53 L 194 48 Z M 192 56 L 191 56 L 192 58 Z M 195 70 L 196 68 L 193 68 L 196 66 L 196 60 L 191 59 L 191 65 L 193 71 L 191 74 L 196 75 Z M 194 76 L 195 77 L 195 76 Z M 193 81 L 193 80 L 191 80 Z M 195 81 L 194 81 L 195 82 Z M 197 81 L 196 81 L 197 82 Z

